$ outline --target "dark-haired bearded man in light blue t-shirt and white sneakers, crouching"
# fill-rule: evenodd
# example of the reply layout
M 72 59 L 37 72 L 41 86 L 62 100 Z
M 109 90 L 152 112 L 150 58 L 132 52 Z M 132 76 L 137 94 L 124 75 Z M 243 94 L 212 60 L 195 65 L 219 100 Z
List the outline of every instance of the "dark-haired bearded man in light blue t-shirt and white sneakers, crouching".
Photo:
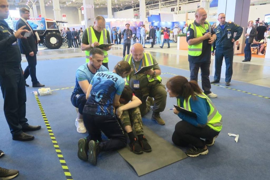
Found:
M 83 107 L 86 103 L 87 88 L 96 72 L 109 71 L 102 65 L 103 60 L 103 51 L 99 48 L 93 48 L 90 51 L 89 62 L 81 65 L 76 71 L 76 85 L 70 99 L 78 114 L 75 125 L 79 133 L 86 133 L 83 124 Z

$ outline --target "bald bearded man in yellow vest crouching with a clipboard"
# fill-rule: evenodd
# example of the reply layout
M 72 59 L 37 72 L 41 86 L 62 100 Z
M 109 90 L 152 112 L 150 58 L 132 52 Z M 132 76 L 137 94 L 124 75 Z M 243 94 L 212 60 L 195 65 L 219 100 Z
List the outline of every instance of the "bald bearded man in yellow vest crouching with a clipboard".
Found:
M 133 69 L 127 76 L 126 85 L 131 87 L 135 96 L 142 102 L 139 106 L 141 116 L 147 114 L 150 106 L 153 106 L 151 119 L 160 125 L 165 125 L 164 120 L 160 117 L 160 112 L 165 109 L 167 92 L 165 86 L 161 84 L 161 71 L 156 59 L 151 54 L 144 53 L 143 46 L 136 43 L 131 48 L 131 54 L 124 56 L 123 61 L 129 62 Z M 153 64 L 157 65 L 141 74 L 134 75 L 141 67 Z

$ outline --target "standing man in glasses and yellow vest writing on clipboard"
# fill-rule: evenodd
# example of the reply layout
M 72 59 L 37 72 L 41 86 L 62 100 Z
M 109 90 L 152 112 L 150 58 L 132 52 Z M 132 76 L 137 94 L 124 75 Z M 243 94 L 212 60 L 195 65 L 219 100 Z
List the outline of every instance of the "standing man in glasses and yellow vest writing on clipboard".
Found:
M 90 26 L 83 32 L 81 49 L 85 51 L 86 63 L 89 62 L 89 52 L 92 48 L 95 48 L 101 44 L 111 44 L 110 33 L 105 29 L 105 19 L 102 16 L 97 16 L 95 18 L 94 26 Z M 112 47 L 104 47 L 102 48 L 104 52 L 104 60 L 102 65 L 107 69 L 108 67 L 108 53 Z

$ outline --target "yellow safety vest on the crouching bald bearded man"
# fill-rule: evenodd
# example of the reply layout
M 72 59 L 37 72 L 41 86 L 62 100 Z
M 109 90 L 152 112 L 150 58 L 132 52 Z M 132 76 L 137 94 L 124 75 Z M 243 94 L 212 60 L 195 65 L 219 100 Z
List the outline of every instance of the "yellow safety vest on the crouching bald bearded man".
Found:
M 152 56 L 149 53 L 143 53 L 143 54 L 144 54 L 143 63 L 146 64 L 146 66 L 152 65 L 153 64 Z M 126 55 L 124 61 L 127 61 L 131 65 L 131 57 L 132 57 L 131 54 Z M 152 77 L 150 75 L 147 75 L 147 78 L 148 78 L 149 82 L 152 82 L 152 81 L 155 81 L 155 80 L 158 80 L 159 82 L 161 82 L 161 77 L 160 76 Z M 127 76 L 126 85 L 129 85 L 129 75 Z

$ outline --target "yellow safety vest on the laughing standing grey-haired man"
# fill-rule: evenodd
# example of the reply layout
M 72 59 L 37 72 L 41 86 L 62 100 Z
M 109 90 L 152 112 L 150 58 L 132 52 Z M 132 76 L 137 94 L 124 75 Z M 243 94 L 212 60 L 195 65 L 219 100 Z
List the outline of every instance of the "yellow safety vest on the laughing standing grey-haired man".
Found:
M 204 24 L 204 25 L 208 25 L 209 32 L 211 32 L 211 25 L 209 24 L 209 22 L 207 22 L 207 24 Z M 199 26 L 196 26 L 194 22 L 191 23 L 190 28 L 194 30 L 195 38 L 199 38 L 203 36 L 203 33 L 201 32 Z M 188 55 L 200 56 L 202 54 L 202 50 L 203 50 L 203 42 L 200 42 L 199 44 L 188 45 Z M 212 47 L 212 50 L 213 50 L 213 47 Z

